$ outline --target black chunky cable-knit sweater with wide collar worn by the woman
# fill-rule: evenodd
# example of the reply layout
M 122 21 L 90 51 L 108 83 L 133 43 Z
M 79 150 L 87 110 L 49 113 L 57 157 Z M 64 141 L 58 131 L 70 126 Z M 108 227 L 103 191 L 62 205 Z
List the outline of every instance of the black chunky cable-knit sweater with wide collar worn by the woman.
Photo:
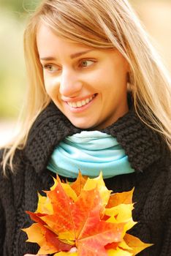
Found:
M 142 124 L 129 110 L 115 124 L 102 129 L 126 151 L 135 172 L 105 180 L 108 189 L 123 192 L 134 187 L 133 219 L 138 222 L 129 233 L 154 245 L 144 256 L 171 255 L 171 170 L 170 151 L 159 135 Z M 49 189 L 53 173 L 47 162 L 55 146 L 68 135 L 81 132 L 53 103 L 42 111 L 28 135 L 26 147 L 15 154 L 15 174 L 0 175 L 0 255 L 36 254 L 37 244 L 26 243 L 21 228 L 31 225 L 25 211 L 37 208 L 37 192 Z M 0 158 L 2 157 L 2 151 Z

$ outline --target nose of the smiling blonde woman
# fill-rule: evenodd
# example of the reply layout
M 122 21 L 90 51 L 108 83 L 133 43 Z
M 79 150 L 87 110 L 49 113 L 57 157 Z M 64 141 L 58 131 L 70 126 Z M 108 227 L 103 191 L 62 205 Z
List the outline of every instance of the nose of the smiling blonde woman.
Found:
M 59 92 L 65 97 L 75 97 L 82 89 L 82 82 L 73 71 L 63 70 L 60 80 Z

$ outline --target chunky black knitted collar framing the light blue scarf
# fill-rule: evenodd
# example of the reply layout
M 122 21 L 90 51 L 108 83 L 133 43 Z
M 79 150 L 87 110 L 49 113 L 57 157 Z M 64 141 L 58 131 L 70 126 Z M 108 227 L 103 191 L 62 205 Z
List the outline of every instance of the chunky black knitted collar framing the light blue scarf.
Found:
M 56 105 L 50 102 L 31 127 L 24 154 L 36 172 L 41 173 L 46 169 L 50 155 L 58 143 L 66 136 L 81 131 L 82 129 L 74 127 Z M 142 172 L 161 158 L 161 138 L 140 121 L 133 109 L 118 118 L 110 127 L 101 129 L 101 132 L 118 140 L 135 172 Z

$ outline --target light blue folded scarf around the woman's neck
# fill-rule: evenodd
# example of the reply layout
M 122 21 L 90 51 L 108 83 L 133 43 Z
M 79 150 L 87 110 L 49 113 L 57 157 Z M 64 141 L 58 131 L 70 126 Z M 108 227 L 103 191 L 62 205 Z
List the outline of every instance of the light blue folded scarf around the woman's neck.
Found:
M 67 178 L 83 175 L 103 178 L 133 173 L 123 148 L 111 135 L 99 131 L 66 137 L 53 151 L 47 169 Z

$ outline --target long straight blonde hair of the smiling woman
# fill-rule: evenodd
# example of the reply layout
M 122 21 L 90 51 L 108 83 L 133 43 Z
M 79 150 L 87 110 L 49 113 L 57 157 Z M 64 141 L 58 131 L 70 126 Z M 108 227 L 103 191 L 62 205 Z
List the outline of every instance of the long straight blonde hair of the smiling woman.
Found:
M 24 34 L 28 72 L 26 118 L 15 143 L 7 145 L 12 168 L 16 148 L 24 148 L 28 132 L 50 98 L 45 91 L 37 51 L 37 29 L 43 23 L 59 37 L 93 48 L 117 48 L 129 62 L 129 83 L 137 115 L 170 146 L 170 78 L 148 36 L 126 0 L 46 0 L 31 16 Z

